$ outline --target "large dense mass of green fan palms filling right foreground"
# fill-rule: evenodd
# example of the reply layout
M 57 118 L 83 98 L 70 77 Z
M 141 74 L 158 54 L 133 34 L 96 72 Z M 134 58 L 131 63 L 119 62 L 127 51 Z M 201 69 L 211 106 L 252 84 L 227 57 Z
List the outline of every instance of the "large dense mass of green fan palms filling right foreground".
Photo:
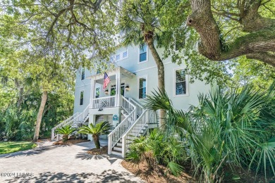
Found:
M 145 106 L 166 110 L 167 134 L 187 139 L 195 169 L 202 170 L 204 182 L 216 182 L 226 163 L 275 175 L 274 99 L 275 92 L 247 85 L 200 95 L 200 105 L 188 112 L 174 109 L 161 91 L 147 96 Z

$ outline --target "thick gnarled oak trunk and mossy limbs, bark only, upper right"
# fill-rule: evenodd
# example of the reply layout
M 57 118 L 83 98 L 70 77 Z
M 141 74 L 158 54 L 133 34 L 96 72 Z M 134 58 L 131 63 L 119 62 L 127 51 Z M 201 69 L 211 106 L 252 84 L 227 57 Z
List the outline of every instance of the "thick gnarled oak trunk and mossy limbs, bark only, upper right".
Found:
M 252 2 L 252 1 L 251 1 Z M 245 2 L 238 23 L 250 32 L 225 44 L 212 14 L 210 0 L 191 0 L 192 13 L 186 24 L 200 34 L 199 52 L 212 61 L 226 61 L 238 56 L 257 59 L 275 67 L 275 20 L 264 18 L 258 10 L 261 1 Z

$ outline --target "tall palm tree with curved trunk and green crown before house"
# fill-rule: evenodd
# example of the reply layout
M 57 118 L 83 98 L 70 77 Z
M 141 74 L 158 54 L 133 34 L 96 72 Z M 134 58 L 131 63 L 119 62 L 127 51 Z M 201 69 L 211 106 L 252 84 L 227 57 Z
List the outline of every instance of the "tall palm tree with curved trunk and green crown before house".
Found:
M 121 31 L 124 45 L 143 46 L 147 44 L 152 53 L 158 72 L 158 87 L 164 90 L 164 63 L 157 53 L 154 42 L 159 36 L 159 21 L 156 17 L 153 1 L 128 0 L 124 1 L 121 15 L 118 18 L 118 29 Z M 164 118 L 164 111 L 160 111 L 160 120 Z

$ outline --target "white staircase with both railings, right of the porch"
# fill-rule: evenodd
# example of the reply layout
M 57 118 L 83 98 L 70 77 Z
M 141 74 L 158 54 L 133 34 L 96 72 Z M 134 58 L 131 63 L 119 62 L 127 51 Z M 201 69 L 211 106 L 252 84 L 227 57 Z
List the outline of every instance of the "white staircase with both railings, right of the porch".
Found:
M 152 117 L 150 115 L 153 113 L 142 108 L 133 99 L 122 96 L 121 100 L 126 118 L 108 135 L 108 153 L 124 158 L 133 139 L 147 132 Z

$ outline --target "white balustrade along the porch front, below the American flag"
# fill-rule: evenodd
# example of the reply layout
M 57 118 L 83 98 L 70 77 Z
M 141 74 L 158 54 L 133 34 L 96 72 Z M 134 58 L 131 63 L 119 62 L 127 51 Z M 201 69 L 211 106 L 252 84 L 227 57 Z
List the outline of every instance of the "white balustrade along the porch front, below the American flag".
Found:
M 92 108 L 113 108 L 116 107 L 116 96 L 106 96 L 92 100 Z

